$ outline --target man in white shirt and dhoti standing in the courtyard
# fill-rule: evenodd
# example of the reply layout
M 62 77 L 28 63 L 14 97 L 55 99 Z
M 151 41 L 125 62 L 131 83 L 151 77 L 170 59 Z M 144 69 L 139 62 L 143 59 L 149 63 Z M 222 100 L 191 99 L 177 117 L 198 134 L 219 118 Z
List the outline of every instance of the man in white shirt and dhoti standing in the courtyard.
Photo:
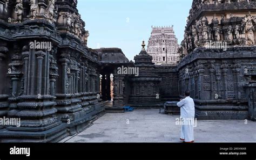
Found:
M 182 121 L 180 140 L 186 143 L 194 142 L 194 100 L 190 98 L 190 91 L 185 91 L 185 99 L 181 99 L 177 106 L 180 107 Z

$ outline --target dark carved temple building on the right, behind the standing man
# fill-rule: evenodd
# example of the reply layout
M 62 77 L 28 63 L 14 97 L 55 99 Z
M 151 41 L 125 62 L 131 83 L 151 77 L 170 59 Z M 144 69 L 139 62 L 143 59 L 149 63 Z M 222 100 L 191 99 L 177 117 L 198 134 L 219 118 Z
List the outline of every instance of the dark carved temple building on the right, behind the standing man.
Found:
M 179 93 L 191 91 L 198 119 L 249 118 L 255 9 L 254 1 L 193 1 L 177 71 Z

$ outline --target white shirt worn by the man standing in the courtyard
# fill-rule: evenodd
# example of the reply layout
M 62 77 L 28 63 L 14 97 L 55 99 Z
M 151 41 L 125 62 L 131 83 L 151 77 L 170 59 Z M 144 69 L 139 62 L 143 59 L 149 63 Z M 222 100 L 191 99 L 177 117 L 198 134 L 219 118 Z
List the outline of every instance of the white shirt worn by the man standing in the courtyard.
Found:
M 180 116 L 182 118 L 194 118 L 194 100 L 190 96 L 179 101 L 177 106 L 180 107 Z

